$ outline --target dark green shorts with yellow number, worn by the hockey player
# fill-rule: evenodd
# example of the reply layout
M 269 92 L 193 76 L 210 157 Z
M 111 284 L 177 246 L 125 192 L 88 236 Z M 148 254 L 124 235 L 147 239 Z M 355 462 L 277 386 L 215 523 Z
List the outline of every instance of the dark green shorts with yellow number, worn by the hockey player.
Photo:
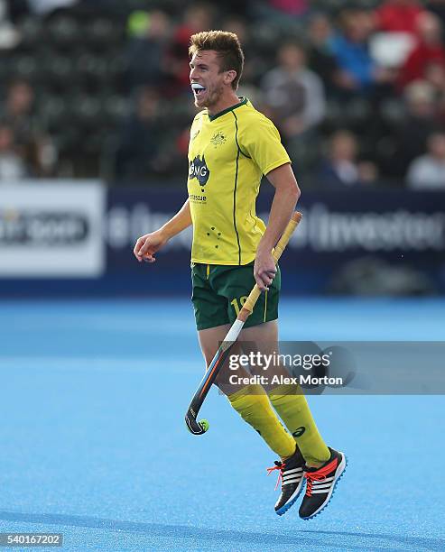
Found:
M 280 297 L 280 268 L 268 291 L 256 301 L 254 312 L 247 318 L 245 327 L 258 326 L 278 318 Z M 195 310 L 196 327 L 233 324 L 247 296 L 255 286 L 254 262 L 243 266 L 191 263 L 191 301 Z

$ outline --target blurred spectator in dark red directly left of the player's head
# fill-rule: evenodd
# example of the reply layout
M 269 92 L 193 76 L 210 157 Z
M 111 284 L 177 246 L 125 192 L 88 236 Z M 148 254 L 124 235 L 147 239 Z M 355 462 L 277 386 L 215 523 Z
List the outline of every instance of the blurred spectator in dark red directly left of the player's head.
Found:
M 167 52 L 165 69 L 170 75 L 165 89 L 167 96 L 190 92 L 189 44 L 195 32 L 209 31 L 212 26 L 212 10 L 208 4 L 192 4 L 185 9 L 182 23 L 173 33 Z

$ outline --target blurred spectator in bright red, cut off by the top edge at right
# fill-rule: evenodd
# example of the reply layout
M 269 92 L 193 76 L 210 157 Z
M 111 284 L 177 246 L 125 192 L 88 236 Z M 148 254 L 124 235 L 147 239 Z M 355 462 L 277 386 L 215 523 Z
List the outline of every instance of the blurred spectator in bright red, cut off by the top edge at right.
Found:
M 417 33 L 423 8 L 417 0 L 387 0 L 375 10 L 377 28 L 385 32 Z

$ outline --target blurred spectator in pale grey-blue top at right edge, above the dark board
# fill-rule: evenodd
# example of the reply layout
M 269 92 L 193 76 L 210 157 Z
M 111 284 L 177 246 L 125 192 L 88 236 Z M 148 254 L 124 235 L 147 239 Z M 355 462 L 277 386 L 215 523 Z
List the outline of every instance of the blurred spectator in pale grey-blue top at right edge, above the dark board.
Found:
M 413 161 L 406 180 L 412 189 L 445 189 L 445 133 L 431 135 L 428 152 Z

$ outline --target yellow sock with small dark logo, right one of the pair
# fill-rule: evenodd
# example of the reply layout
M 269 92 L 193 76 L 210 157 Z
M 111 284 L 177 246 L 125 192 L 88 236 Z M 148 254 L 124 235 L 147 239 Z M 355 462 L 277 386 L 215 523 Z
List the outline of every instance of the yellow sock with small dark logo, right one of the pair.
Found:
M 295 438 L 304 460 L 310 465 L 329 460 L 329 448 L 320 436 L 301 387 L 280 385 L 269 391 L 269 399 Z

